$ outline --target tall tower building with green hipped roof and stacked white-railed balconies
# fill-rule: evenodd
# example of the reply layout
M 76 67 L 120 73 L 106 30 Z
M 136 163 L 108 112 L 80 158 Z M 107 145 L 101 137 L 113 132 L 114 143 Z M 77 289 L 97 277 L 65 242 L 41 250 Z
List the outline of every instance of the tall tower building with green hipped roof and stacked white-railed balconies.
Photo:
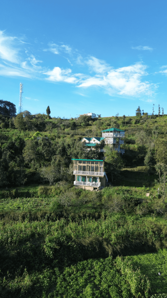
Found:
M 118 128 L 108 128 L 102 131 L 102 137 L 105 138 L 105 144 L 113 146 L 113 149 L 125 153 L 124 149 L 120 149 L 120 145 L 124 144 L 124 141 L 121 140 L 125 137 L 125 131 Z

